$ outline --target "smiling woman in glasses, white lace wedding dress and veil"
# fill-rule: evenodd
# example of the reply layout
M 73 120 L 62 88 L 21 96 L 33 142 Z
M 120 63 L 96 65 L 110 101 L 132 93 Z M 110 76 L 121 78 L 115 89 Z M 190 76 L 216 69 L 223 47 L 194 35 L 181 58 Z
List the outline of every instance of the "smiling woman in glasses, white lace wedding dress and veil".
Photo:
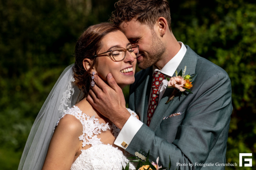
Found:
M 94 74 L 106 81 L 111 73 L 121 88 L 132 84 L 138 52 L 114 24 L 84 31 L 75 64 L 63 71 L 33 124 L 19 170 L 121 170 L 128 153 L 114 145 L 120 129 L 92 107 L 87 95 Z M 131 163 L 130 169 L 135 169 Z

